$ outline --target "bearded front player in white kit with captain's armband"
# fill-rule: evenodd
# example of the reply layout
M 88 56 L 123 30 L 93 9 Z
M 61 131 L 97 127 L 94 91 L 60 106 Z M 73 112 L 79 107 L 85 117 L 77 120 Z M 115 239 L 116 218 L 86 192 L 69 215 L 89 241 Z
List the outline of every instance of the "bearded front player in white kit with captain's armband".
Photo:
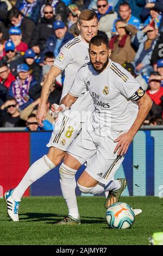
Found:
M 62 105 L 53 108 L 59 112 L 65 106 L 73 106 L 87 90 L 95 106 L 82 132 L 68 148 L 59 171 L 61 182 L 67 181 L 69 187 L 69 190 L 62 190 L 68 210 L 74 205 L 73 212 L 78 218 L 74 219 L 69 211 L 57 224 L 80 224 L 76 200 L 71 197 L 75 189 L 72 180 L 86 161 L 86 169 L 78 179 L 80 191 L 92 194 L 109 191 L 105 208 L 118 202 L 126 180 L 114 180 L 114 174 L 152 107 L 151 99 L 135 78 L 109 59 L 108 41 L 103 36 L 91 39 L 89 54 L 91 63 L 80 68 L 68 94 L 61 100 Z

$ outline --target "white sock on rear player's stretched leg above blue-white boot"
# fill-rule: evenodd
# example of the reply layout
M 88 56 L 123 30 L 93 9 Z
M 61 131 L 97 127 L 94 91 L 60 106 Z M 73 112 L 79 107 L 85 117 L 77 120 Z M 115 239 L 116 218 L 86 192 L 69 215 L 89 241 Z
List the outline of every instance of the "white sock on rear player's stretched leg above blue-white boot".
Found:
M 27 188 L 54 167 L 53 162 L 47 157 L 47 155 L 44 155 L 41 159 L 34 162 L 24 175 L 20 184 L 14 188 L 12 198 L 15 201 L 20 201 Z

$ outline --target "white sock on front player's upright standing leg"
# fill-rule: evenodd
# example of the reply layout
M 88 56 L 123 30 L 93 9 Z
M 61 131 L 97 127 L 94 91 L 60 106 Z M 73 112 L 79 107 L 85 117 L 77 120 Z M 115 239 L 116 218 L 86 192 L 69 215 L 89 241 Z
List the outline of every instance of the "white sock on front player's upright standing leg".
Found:
M 60 186 L 62 195 L 66 201 L 68 214 L 73 218 L 79 217 L 77 198 L 76 198 L 76 175 L 77 170 L 72 169 L 66 164 L 62 163 L 59 168 L 60 173 Z

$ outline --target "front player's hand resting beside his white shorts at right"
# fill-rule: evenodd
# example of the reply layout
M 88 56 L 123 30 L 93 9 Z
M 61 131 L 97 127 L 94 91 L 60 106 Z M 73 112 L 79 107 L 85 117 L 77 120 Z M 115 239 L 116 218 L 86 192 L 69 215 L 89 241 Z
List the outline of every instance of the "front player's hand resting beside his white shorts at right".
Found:
M 131 141 L 133 141 L 133 138 L 134 138 L 134 136 L 131 135 L 129 132 L 126 132 L 126 133 L 123 133 L 122 135 L 120 135 L 114 141 L 114 142 L 118 142 L 118 144 L 116 145 L 116 148 L 114 150 L 114 153 L 116 153 L 118 150 L 117 155 L 123 156 L 123 154 L 126 154 Z

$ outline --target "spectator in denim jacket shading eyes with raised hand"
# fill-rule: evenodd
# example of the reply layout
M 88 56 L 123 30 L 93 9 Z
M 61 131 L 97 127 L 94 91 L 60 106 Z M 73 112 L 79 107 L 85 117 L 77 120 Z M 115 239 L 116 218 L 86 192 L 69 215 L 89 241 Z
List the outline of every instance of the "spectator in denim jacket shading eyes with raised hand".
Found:
M 158 40 L 158 30 L 148 25 L 142 31 L 138 31 L 135 36 L 140 45 L 133 64 L 138 74 L 141 73 L 144 76 L 148 76 L 153 71 L 151 57 L 156 41 Z M 135 36 L 132 38 L 133 41 Z

